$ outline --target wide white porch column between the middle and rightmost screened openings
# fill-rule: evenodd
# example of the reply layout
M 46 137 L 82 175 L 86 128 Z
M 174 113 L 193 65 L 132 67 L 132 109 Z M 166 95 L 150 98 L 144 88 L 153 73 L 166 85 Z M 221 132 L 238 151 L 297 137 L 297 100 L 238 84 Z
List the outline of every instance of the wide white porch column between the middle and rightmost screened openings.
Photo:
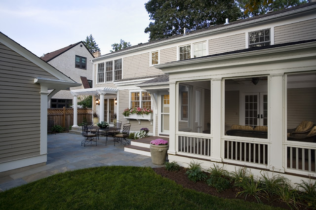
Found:
M 270 75 L 270 85 L 268 90 L 269 122 L 268 130 L 270 134 L 270 170 L 284 172 L 284 103 L 283 103 L 283 73 Z

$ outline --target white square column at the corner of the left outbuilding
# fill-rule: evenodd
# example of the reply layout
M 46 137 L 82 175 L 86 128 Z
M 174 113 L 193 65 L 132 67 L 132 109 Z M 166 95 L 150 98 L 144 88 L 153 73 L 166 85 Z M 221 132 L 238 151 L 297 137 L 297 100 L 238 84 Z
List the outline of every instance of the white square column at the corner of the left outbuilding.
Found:
M 40 154 L 47 154 L 47 103 L 48 88 L 40 85 Z M 44 160 L 45 162 L 47 161 Z

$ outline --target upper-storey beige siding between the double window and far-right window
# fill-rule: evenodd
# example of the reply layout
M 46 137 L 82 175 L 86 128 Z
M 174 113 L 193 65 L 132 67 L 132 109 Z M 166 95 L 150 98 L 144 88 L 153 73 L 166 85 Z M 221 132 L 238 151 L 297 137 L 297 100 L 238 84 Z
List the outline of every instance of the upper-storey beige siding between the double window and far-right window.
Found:
M 230 35 L 210 39 L 208 42 L 209 55 L 245 49 L 245 34 Z

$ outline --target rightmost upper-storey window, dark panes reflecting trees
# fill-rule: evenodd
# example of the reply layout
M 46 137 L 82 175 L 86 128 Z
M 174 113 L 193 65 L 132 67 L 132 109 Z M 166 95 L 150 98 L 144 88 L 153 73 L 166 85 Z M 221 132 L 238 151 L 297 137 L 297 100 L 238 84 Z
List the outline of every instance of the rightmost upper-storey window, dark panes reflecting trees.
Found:
M 270 45 L 270 29 L 249 33 L 249 48 Z

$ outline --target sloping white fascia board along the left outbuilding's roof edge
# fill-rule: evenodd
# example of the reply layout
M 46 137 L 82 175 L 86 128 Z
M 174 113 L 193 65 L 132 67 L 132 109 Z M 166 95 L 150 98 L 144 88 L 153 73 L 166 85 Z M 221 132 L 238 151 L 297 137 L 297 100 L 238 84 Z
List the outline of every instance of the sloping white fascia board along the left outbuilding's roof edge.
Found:
M 15 51 L 16 53 L 20 54 L 24 58 L 28 59 L 41 69 L 47 71 L 48 73 L 52 74 L 58 79 L 75 82 L 70 77 L 66 76 L 64 73 L 60 72 L 59 70 L 52 67 L 50 64 L 46 63 L 45 61 L 41 60 L 38 56 L 33 54 L 31 51 L 27 50 L 14 40 L 10 39 L 8 36 L 0 33 L 0 42 L 10 48 L 11 50 Z

